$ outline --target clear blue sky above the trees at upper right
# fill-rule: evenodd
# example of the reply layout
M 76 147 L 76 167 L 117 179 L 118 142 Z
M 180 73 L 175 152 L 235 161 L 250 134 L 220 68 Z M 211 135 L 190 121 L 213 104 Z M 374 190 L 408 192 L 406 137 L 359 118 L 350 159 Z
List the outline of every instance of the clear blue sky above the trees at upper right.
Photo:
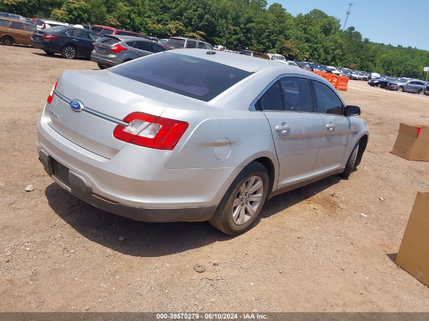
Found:
M 340 19 L 341 25 L 352 2 L 347 27 L 354 26 L 362 37 L 386 45 L 429 50 L 429 0 L 268 0 L 269 5 L 274 2 L 293 16 L 319 9 Z

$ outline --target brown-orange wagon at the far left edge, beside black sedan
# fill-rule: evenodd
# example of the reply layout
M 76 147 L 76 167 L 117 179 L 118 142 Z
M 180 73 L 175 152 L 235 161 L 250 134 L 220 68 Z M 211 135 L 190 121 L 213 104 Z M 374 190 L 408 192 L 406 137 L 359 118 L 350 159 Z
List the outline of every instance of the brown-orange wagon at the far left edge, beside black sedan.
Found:
M 4 46 L 29 45 L 35 30 L 36 27 L 25 20 L 0 17 L 0 43 Z

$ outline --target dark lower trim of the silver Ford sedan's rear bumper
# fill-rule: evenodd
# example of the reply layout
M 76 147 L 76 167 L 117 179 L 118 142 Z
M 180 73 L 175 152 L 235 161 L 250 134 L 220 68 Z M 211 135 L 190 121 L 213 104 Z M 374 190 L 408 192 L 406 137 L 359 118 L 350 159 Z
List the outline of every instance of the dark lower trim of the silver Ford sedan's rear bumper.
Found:
M 130 218 L 142 222 L 201 222 L 207 221 L 215 212 L 217 206 L 199 206 L 199 207 L 176 207 L 176 208 L 148 208 L 136 207 L 121 204 L 114 201 L 101 198 L 100 195 L 92 193 L 89 182 L 82 175 L 68 169 L 68 182 L 63 182 L 59 177 L 53 174 L 56 161 L 48 155 L 43 149 L 39 151 L 39 160 L 43 164 L 45 171 L 52 179 L 64 190 L 72 193 L 76 197 L 105 211 L 119 216 Z

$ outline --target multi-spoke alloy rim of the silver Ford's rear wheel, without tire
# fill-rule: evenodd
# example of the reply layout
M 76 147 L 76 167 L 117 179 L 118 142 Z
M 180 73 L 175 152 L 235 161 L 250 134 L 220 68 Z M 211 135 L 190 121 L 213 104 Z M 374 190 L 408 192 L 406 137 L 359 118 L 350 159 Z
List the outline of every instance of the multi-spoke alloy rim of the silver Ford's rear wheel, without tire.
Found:
M 263 194 L 263 183 L 259 176 L 249 177 L 240 187 L 234 199 L 233 222 L 243 225 L 259 208 Z

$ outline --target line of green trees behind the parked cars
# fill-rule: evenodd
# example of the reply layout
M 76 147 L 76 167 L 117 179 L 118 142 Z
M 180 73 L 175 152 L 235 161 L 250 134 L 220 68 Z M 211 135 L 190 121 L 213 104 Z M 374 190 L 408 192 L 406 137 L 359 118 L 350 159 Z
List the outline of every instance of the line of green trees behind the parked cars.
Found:
M 352 26 L 343 31 L 339 19 L 320 10 L 292 16 L 266 0 L 2 0 L 0 11 L 158 37 L 182 35 L 389 76 L 423 78 L 429 66 L 429 51 L 373 43 Z

